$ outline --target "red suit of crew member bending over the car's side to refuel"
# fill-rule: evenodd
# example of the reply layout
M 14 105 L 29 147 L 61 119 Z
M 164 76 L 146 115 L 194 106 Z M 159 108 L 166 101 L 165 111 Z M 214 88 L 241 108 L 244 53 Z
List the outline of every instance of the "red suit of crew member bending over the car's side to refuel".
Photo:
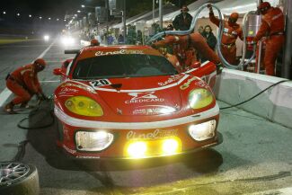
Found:
M 192 48 L 196 49 L 202 56 L 208 58 L 209 61 L 218 64 L 220 59 L 217 54 L 208 47 L 204 37 L 198 32 L 189 35 L 167 35 L 164 40 L 154 43 L 155 47 L 173 46 L 173 54 L 178 58 L 180 64 L 183 66 L 190 66 L 196 60 L 195 53 Z M 193 55 L 191 55 L 191 53 Z M 181 58 L 181 55 L 185 55 Z

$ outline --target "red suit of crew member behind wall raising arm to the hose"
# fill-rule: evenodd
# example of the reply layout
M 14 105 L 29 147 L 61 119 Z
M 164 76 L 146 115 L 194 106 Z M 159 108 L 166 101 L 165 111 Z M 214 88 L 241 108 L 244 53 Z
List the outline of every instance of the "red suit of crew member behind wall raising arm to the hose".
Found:
M 215 17 L 214 13 L 209 13 L 210 21 L 215 23 L 219 27 L 220 20 Z M 236 45 L 235 41 L 239 37 L 243 40 L 243 30 L 237 24 L 225 21 L 224 22 L 224 30 L 222 34 L 221 40 L 221 52 L 226 61 L 229 64 L 235 65 L 236 64 Z

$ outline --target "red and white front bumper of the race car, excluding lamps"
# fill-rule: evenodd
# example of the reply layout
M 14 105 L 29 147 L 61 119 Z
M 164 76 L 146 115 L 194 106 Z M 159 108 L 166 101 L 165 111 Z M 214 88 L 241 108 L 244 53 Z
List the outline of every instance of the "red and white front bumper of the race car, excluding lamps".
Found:
M 61 113 L 56 108 L 55 114 L 61 123 L 59 127 L 59 135 L 61 136 L 58 141 L 58 146 L 62 147 L 66 151 L 66 154 L 78 159 L 132 159 L 181 155 L 196 152 L 211 146 L 217 146 L 222 142 L 222 136 L 217 132 L 219 120 L 217 107 L 194 116 L 148 123 L 106 123 L 90 121 L 91 123 L 85 124 L 82 120 L 71 119 L 64 112 Z M 190 136 L 190 126 L 208 122 L 209 120 L 216 120 L 216 128 L 212 137 L 198 141 Z M 114 140 L 110 146 L 102 151 L 81 151 L 78 149 L 75 141 L 76 132 L 94 132 L 101 130 L 105 130 L 114 135 Z M 178 140 L 180 149 L 171 154 L 165 154 L 161 152 L 161 143 L 169 138 Z M 138 157 L 127 155 L 125 151 L 127 151 L 129 143 L 137 141 L 146 142 L 151 152 Z

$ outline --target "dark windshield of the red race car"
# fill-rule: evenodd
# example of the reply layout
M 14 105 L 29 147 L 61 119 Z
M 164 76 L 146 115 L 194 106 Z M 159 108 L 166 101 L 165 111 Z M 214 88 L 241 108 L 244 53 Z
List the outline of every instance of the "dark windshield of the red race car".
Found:
M 177 70 L 164 57 L 123 54 L 82 59 L 75 66 L 73 78 L 86 80 L 176 74 Z

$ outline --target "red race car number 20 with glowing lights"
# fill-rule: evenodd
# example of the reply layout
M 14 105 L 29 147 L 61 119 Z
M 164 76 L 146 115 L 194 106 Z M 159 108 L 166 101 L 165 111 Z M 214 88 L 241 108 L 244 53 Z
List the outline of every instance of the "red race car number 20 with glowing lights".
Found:
M 58 146 L 67 154 L 146 158 L 222 142 L 209 86 L 216 80 L 213 63 L 180 73 L 148 46 L 97 46 L 76 53 L 54 70 L 62 80 L 54 93 Z

